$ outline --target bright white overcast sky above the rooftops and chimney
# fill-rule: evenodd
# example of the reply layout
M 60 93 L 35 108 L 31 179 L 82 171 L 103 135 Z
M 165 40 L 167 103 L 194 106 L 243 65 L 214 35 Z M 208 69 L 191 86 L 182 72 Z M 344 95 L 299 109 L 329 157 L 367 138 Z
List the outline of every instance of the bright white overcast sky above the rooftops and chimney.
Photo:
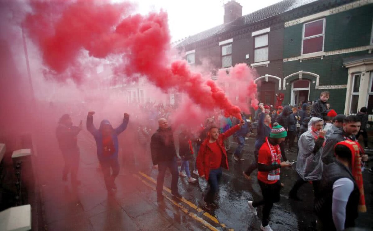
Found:
M 113 0 L 120 1 L 120 0 Z M 242 15 L 270 6 L 280 0 L 236 0 L 242 6 Z M 132 0 L 138 4 L 138 13 L 165 10 L 168 13 L 172 39 L 177 41 L 189 35 L 223 24 L 223 3 L 228 0 Z

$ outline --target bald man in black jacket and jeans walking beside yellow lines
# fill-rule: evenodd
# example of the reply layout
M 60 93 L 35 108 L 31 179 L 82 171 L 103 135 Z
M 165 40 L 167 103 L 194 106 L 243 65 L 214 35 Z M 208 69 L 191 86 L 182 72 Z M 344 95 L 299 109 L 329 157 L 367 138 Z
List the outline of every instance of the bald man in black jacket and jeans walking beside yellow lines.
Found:
M 159 129 L 153 134 L 150 141 L 151 160 L 154 166 L 158 165 L 157 199 L 163 199 L 164 174 L 167 168 L 170 169 L 172 175 L 171 193 L 176 198 L 181 199 L 182 196 L 178 191 L 179 170 L 173 131 L 164 118 L 160 118 L 158 124 Z

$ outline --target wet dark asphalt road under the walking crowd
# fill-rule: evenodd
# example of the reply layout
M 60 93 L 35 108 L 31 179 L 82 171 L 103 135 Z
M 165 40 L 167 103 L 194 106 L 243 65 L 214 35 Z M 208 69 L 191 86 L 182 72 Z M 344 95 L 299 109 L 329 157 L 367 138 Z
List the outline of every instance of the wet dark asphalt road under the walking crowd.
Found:
M 232 138 L 232 137 L 231 137 Z M 223 176 L 220 182 L 220 191 L 218 202 L 220 208 L 209 211 L 220 223 L 224 223 L 227 228 L 234 230 L 260 230 L 261 208 L 258 209 L 258 216 L 251 214 L 247 207 L 247 200 L 260 200 L 261 190 L 257 181 L 257 170 L 251 176 L 253 181 L 248 181 L 242 175 L 242 171 L 251 163 L 254 150 L 254 138 L 249 138 L 243 150 L 244 161 L 233 160 L 232 154 L 229 154 L 229 170 L 223 170 Z M 231 150 L 235 150 L 236 143 L 231 139 Z M 287 154 L 289 160 L 296 160 L 296 153 Z M 193 161 L 189 164 L 191 172 L 193 170 Z M 370 162 L 372 165 L 372 162 Z M 156 179 L 157 170 L 144 170 L 146 174 Z M 193 177 L 193 176 L 192 176 Z M 194 176 L 195 177 L 195 176 Z M 373 222 L 373 204 L 372 204 L 372 180 L 373 175 L 365 171 L 364 191 L 368 212 L 360 214 L 357 219 L 357 226 L 361 228 L 372 228 Z M 170 186 L 170 174 L 166 174 L 165 186 Z M 208 186 L 206 180 L 197 177 L 198 182 L 189 184 L 185 178 L 179 179 L 179 191 L 185 199 L 202 207 L 202 198 Z M 294 169 L 282 169 L 281 182 L 285 184 L 280 193 L 280 202 L 276 203 L 271 211 L 270 225 L 273 230 L 316 230 L 316 216 L 313 212 L 313 187 L 306 184 L 301 187 L 298 196 L 303 202 L 295 202 L 288 198 L 289 190 L 297 179 L 297 173 Z M 182 225 L 182 224 L 181 224 Z

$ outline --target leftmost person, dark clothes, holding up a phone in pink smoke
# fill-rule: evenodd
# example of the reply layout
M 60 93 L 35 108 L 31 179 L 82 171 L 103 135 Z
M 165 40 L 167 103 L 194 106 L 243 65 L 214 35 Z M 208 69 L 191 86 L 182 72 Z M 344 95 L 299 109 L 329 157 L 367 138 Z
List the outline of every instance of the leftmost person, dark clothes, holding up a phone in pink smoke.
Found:
M 69 114 L 64 114 L 56 129 L 57 141 L 62 152 L 65 166 L 62 171 L 62 180 L 68 180 L 68 173 L 71 172 L 72 185 L 79 185 L 80 181 L 77 179 L 79 169 L 79 147 L 78 139 L 76 138 L 82 130 L 82 121 L 79 126 L 73 126 Z

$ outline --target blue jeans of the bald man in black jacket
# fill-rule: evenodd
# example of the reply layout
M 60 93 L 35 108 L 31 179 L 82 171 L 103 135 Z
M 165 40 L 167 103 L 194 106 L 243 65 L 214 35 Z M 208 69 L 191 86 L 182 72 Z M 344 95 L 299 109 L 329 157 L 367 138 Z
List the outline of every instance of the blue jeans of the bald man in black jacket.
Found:
M 176 157 L 174 157 L 173 160 L 158 162 L 157 194 L 162 194 L 164 174 L 166 174 L 167 168 L 170 169 L 172 175 L 171 192 L 178 193 L 179 170 L 178 163 L 176 162 Z

